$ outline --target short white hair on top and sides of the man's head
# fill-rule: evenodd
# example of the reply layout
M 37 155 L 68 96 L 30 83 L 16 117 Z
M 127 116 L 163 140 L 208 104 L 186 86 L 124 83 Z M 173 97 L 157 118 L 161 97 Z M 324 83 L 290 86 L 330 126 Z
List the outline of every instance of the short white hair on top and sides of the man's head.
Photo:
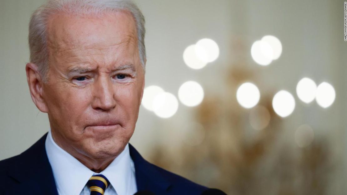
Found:
M 145 19 L 134 2 L 131 0 L 48 0 L 34 11 L 29 23 L 30 61 L 37 65 L 42 80 L 48 81 L 47 24 L 52 15 L 61 12 L 77 15 L 101 15 L 119 10 L 129 11 L 136 22 L 139 56 L 143 69 L 145 69 Z

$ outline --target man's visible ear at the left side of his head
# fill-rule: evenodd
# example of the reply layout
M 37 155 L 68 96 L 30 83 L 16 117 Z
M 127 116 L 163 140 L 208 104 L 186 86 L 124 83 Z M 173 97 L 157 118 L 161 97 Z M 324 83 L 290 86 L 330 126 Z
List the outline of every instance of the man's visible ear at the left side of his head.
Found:
M 33 99 L 36 107 L 44 113 L 48 112 L 46 103 L 43 99 L 43 82 L 39 71 L 37 71 L 37 65 L 33 63 L 27 63 L 25 66 L 26 79 L 28 81 L 31 98 Z

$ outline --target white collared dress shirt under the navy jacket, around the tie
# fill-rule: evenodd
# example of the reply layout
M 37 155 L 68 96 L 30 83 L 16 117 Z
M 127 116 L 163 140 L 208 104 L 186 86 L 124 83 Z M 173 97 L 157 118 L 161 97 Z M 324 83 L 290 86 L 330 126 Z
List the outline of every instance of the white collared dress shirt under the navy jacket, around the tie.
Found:
M 137 192 L 135 167 L 130 157 L 128 144 L 100 173 L 88 169 L 60 148 L 54 142 L 51 130 L 48 132 L 45 148 L 59 195 L 90 195 L 90 190 L 86 186 L 87 181 L 98 174 L 104 175 L 111 183 L 104 195 L 133 195 Z

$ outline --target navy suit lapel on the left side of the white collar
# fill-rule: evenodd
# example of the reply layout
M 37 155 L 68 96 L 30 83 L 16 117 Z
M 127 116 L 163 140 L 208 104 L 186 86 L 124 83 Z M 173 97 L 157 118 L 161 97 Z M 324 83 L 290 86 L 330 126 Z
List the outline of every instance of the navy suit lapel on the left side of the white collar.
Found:
M 45 150 L 46 136 L 47 133 L 9 167 L 8 175 L 17 180 L 18 185 L 8 194 L 58 195 Z

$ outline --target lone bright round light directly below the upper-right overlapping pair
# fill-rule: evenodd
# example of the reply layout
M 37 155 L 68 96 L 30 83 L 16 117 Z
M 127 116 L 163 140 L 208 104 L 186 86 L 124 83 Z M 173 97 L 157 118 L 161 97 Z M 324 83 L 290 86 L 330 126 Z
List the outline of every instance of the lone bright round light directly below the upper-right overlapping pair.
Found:
M 243 83 L 236 92 L 238 103 L 244 108 L 252 108 L 258 104 L 260 92 L 257 86 L 253 83 Z

